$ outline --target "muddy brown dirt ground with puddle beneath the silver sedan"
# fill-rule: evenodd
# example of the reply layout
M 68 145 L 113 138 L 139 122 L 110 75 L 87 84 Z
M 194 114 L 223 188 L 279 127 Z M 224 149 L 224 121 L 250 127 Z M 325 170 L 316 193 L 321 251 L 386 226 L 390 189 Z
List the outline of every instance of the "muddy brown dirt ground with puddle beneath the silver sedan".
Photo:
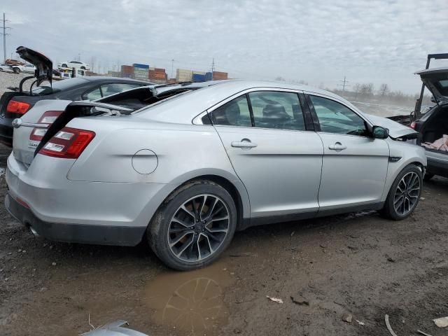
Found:
M 0 147 L 0 176 L 7 154 Z M 125 319 L 154 336 L 380 336 L 390 335 L 385 314 L 398 336 L 448 335 L 432 321 L 448 316 L 447 186 L 426 183 L 405 221 L 370 212 L 237 232 L 216 264 L 188 273 L 164 267 L 146 244 L 35 238 L 2 201 L 0 335 L 78 335 L 90 316 L 94 327 Z

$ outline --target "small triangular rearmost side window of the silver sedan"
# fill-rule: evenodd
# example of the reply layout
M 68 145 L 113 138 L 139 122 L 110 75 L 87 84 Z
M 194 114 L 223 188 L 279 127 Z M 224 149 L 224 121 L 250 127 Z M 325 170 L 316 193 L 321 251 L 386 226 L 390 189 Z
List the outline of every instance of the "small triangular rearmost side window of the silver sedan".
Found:
M 218 107 L 211 113 L 211 122 L 214 125 L 251 127 L 251 113 L 249 112 L 246 95 L 244 94 Z

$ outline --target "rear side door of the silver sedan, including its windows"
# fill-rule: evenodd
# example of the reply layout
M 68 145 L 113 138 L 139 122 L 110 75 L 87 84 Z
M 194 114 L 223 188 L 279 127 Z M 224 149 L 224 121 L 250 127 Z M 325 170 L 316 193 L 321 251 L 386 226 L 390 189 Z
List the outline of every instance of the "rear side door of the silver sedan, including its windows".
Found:
M 323 146 L 303 114 L 297 92 L 272 89 L 246 92 L 209 114 L 248 191 L 251 220 L 285 221 L 318 210 Z

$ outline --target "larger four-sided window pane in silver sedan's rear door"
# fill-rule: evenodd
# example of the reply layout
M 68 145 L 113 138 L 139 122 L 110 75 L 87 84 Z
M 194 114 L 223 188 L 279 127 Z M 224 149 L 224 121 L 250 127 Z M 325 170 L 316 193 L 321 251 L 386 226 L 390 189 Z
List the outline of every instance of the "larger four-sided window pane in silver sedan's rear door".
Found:
M 255 127 L 305 130 L 299 97 L 293 92 L 259 91 L 249 93 Z

